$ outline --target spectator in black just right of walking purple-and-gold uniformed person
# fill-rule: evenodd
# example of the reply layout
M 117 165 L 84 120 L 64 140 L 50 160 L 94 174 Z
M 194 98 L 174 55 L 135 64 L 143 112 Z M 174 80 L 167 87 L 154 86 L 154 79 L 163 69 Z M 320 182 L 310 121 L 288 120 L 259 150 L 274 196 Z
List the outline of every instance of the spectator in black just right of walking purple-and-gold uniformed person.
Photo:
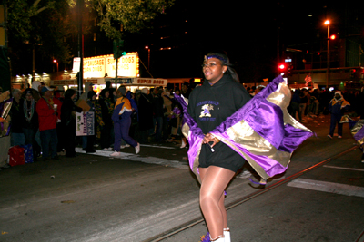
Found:
M 148 132 L 153 129 L 153 104 L 147 98 L 149 90 L 143 88 L 138 100 L 138 114 L 139 114 L 139 137 L 140 142 L 148 142 Z

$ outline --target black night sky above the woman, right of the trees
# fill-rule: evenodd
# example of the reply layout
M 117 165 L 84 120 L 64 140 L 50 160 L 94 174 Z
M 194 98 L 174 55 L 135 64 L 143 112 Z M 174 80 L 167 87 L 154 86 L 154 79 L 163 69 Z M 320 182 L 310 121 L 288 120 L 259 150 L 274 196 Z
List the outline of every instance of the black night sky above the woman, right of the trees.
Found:
M 268 77 L 271 80 L 277 75 L 278 62 L 283 61 L 287 47 L 326 38 L 323 22 L 327 18 L 331 19 L 331 33 L 339 34 L 339 38 L 344 37 L 348 23 L 355 22 L 350 18 L 357 17 L 363 23 L 359 11 L 362 3 L 265 2 L 208 1 L 201 5 L 197 1 L 177 0 L 160 19 L 186 15 L 189 34 L 193 37 L 182 54 L 164 54 L 168 59 L 164 64 L 154 63 L 155 73 L 162 77 L 201 75 L 203 55 L 211 50 L 224 50 L 236 64 L 240 79 L 258 82 Z M 361 31 L 364 33 L 363 28 Z

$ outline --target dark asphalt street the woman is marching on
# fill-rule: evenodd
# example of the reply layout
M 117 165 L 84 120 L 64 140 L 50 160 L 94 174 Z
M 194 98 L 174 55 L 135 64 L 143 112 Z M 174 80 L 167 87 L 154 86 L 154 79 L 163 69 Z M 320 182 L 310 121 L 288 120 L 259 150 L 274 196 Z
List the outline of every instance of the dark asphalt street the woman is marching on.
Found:
M 347 124 L 341 140 L 326 137 L 329 116 L 305 125 L 317 137 L 306 140 L 288 171 L 268 186 L 353 148 Z M 165 143 L 142 146 L 138 155 L 122 151 L 120 159 L 109 158 L 111 151 L 80 151 L 76 158 L 0 171 L 0 241 L 151 241 L 201 218 L 187 150 Z M 232 241 L 355 241 L 364 229 L 360 156 L 351 150 L 228 209 Z M 227 205 L 257 191 L 248 176 L 238 175 Z M 205 223 L 197 223 L 162 241 L 198 241 L 206 232 Z

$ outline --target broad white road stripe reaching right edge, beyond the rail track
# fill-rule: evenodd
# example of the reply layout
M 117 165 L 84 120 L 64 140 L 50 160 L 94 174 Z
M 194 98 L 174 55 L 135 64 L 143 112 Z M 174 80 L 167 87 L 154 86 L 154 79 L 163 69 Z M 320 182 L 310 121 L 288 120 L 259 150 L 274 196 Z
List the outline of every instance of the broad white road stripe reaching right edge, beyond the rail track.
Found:
M 333 183 L 314 179 L 294 179 L 287 184 L 289 187 L 311 189 L 336 193 L 345 196 L 364 198 L 364 188 L 346 184 Z

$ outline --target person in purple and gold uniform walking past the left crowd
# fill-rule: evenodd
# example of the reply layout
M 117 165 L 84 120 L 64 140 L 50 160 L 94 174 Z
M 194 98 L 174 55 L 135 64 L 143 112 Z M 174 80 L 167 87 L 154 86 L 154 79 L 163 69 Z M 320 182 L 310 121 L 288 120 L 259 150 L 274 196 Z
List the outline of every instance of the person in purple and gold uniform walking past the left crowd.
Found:
M 117 89 L 118 99 L 116 100 L 115 110 L 112 115 L 114 121 L 114 152 L 110 154 L 112 157 L 118 157 L 120 153 L 121 139 L 136 149 L 136 154 L 140 151 L 140 144 L 129 136 L 131 125 L 131 115 L 133 113 L 130 101 L 126 98 L 126 87 L 120 86 Z

